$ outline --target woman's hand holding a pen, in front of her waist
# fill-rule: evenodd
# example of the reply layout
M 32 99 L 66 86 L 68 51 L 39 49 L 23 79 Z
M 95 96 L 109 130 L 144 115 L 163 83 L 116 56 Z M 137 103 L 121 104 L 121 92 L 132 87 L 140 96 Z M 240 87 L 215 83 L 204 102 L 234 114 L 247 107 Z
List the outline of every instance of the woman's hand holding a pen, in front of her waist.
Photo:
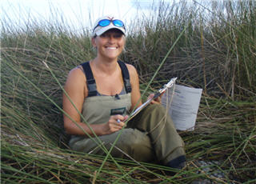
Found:
M 103 134 L 113 134 L 114 132 L 121 130 L 122 127 L 126 126 L 125 121 L 128 118 L 128 116 L 122 116 L 122 115 L 113 115 L 110 116 L 110 119 L 108 122 L 106 122 L 103 128 L 104 133 Z

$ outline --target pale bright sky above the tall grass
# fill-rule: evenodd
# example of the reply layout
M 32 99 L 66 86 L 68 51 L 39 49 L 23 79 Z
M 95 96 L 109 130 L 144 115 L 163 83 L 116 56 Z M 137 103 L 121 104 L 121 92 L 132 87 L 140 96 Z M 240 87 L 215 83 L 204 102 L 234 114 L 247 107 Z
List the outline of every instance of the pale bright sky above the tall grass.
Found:
M 103 15 L 114 15 L 130 24 L 134 18 L 146 16 L 150 5 L 159 0 L 0 0 L 0 17 L 13 26 L 40 20 L 63 19 L 66 26 L 80 31 L 90 28 Z M 164 0 L 171 2 L 172 0 Z M 174 0 L 173 0 L 174 1 Z M 176 0 L 177 1 L 177 0 Z

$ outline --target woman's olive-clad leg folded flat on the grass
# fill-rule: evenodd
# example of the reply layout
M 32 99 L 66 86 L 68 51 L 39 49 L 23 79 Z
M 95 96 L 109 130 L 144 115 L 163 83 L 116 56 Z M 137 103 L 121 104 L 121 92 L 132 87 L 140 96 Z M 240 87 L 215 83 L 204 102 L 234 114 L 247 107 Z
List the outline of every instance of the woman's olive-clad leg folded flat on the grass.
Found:
M 113 145 L 120 131 L 114 134 L 99 136 L 107 150 Z M 96 140 L 96 138 L 93 138 Z M 70 140 L 72 150 L 82 151 L 90 154 L 106 155 L 106 153 L 94 142 L 93 139 L 74 137 Z M 96 140 L 97 141 L 97 140 Z M 97 141 L 98 142 L 98 141 Z M 149 162 L 155 160 L 150 138 L 146 133 L 136 129 L 124 129 L 118 138 L 111 155 L 116 158 L 133 158 L 138 162 Z M 127 156 L 129 155 L 129 156 Z

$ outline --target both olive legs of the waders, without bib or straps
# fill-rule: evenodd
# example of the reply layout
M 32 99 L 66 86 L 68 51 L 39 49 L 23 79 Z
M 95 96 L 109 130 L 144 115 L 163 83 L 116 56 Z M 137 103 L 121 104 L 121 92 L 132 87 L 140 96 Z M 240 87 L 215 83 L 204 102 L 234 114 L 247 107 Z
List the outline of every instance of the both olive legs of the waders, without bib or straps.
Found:
M 166 165 L 185 155 L 184 142 L 162 105 L 150 104 L 131 119 L 124 130 L 98 138 L 109 150 L 118 134 L 121 135 L 111 151 L 114 157 L 131 157 L 138 162 L 158 161 Z M 70 147 L 89 154 L 106 154 L 92 139 L 85 137 L 74 136 L 70 139 Z

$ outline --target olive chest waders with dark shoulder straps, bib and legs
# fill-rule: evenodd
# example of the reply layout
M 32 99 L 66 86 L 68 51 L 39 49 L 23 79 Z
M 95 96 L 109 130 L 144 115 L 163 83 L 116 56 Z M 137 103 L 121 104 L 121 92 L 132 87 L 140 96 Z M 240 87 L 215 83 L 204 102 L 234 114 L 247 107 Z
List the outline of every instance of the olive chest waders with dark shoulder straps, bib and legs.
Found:
M 113 110 L 123 110 L 122 115 L 129 115 L 130 76 L 125 63 L 118 61 L 118 64 L 122 70 L 125 93 L 114 96 L 99 95 L 89 62 L 82 64 L 89 90 L 88 97 L 82 106 L 82 115 L 89 124 L 108 122 Z M 109 150 L 119 133 L 117 131 L 113 134 L 98 136 L 98 138 Z M 105 152 L 92 139 L 73 135 L 69 145 L 73 150 L 105 155 Z M 172 167 L 178 167 L 181 162 L 185 162 L 184 142 L 162 105 L 147 106 L 127 123 L 111 155 L 117 158 L 129 158 L 127 154 L 138 162 L 158 161 Z

